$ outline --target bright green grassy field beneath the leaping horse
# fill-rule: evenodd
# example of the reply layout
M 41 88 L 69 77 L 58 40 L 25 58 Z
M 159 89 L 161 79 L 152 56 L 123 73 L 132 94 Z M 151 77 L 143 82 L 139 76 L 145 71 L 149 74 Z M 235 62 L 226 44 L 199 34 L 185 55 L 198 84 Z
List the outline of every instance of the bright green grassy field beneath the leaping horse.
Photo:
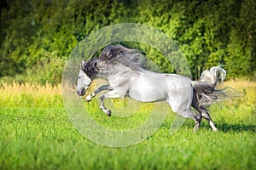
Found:
M 246 95 L 211 106 L 218 133 L 206 121 L 192 133 L 194 122 L 186 120 L 170 135 L 171 112 L 142 143 L 109 148 L 90 142 L 73 127 L 63 108 L 61 85 L 2 83 L 0 169 L 255 169 L 256 82 L 224 85 Z M 144 108 L 129 117 L 129 125 L 147 116 L 150 106 Z M 96 108 L 93 117 L 109 126 L 125 123 Z

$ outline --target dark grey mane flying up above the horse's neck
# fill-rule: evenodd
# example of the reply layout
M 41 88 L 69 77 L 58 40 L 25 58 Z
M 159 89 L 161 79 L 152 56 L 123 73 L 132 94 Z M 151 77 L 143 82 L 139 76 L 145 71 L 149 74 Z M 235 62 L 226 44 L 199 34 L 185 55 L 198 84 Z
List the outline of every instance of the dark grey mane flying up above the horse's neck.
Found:
M 146 59 L 137 49 L 125 48 L 122 45 L 109 45 L 102 50 L 102 54 L 98 57 L 98 61 L 103 65 L 116 64 L 130 67 L 132 70 L 141 70 L 146 67 Z

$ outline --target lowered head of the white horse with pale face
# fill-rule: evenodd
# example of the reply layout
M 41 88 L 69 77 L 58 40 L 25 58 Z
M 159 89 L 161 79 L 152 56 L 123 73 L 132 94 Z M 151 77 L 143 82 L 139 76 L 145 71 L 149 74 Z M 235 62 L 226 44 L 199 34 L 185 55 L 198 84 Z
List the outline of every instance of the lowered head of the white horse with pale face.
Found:
M 85 91 L 87 90 L 87 88 L 89 88 L 93 78 L 96 77 L 97 72 L 95 66 L 95 59 L 91 59 L 87 63 L 82 61 L 77 83 L 77 93 L 79 94 L 79 96 L 83 96 L 85 94 Z

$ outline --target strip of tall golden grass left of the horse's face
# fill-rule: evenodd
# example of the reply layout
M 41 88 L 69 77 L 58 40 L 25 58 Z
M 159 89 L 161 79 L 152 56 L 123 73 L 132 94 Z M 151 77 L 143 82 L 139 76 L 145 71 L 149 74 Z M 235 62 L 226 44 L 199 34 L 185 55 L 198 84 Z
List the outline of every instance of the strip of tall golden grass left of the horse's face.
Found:
M 61 84 L 2 82 L 0 107 L 61 107 Z

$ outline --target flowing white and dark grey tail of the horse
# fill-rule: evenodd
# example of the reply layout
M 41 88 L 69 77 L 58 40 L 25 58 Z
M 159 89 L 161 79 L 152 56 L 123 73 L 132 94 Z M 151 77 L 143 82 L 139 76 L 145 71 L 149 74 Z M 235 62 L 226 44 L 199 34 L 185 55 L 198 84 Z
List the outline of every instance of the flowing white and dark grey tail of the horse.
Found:
M 199 82 L 194 81 L 191 83 L 194 88 L 195 104 L 199 108 L 202 105 L 210 105 L 212 102 L 218 102 L 230 97 L 230 90 L 227 90 L 230 88 L 216 88 L 218 83 L 224 82 L 225 77 L 226 71 L 218 65 L 212 67 L 210 71 L 203 71 Z

